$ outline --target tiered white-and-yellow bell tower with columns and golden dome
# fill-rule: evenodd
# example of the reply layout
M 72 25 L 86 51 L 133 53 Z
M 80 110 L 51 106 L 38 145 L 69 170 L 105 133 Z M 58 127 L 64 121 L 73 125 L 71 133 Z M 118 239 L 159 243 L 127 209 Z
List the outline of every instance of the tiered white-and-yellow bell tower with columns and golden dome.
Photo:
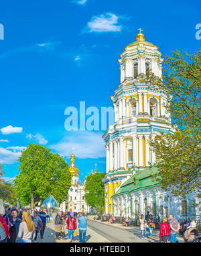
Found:
M 163 62 L 158 47 L 145 39 L 140 31 L 136 41 L 119 55 L 121 83 L 111 97 L 115 124 L 103 135 L 107 151 L 103 179 L 106 213 L 113 212 L 111 196 L 115 189 L 136 171 L 155 163 L 151 140 L 160 132 L 173 133 L 170 113 L 165 109 L 168 95 L 145 83 L 150 73 L 161 77 Z

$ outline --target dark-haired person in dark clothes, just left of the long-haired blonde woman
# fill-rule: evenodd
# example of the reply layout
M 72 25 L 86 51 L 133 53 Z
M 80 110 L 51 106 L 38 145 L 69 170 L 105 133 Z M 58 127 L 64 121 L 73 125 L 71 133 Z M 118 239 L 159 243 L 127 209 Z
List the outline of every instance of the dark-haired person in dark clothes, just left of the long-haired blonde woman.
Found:
M 19 232 L 19 224 L 21 219 L 18 217 L 19 212 L 17 209 L 13 208 L 11 210 L 11 216 L 6 218 L 7 225 L 9 226 L 10 238 L 7 239 L 7 243 L 15 243 L 17 239 L 17 234 Z

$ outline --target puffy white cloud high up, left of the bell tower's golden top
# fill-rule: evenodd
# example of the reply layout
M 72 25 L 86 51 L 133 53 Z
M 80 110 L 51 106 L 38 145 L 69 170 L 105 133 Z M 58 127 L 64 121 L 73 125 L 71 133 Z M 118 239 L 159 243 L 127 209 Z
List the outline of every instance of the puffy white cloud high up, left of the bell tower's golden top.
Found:
M 83 32 L 120 32 L 123 29 L 123 26 L 118 25 L 120 18 L 123 16 L 117 16 L 114 13 L 93 16 Z

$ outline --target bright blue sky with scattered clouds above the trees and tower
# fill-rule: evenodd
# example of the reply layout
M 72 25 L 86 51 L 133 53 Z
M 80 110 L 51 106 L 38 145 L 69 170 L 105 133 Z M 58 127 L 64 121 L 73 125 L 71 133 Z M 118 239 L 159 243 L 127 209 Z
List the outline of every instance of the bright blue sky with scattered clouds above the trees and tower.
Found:
M 70 163 L 74 146 L 80 180 L 105 171 L 105 131 L 64 128 L 68 106 L 112 106 L 120 81 L 119 54 L 138 28 L 165 56 L 194 52 L 200 1 L 9 1 L 0 4 L 0 163 L 18 174 L 29 142 L 47 146 Z

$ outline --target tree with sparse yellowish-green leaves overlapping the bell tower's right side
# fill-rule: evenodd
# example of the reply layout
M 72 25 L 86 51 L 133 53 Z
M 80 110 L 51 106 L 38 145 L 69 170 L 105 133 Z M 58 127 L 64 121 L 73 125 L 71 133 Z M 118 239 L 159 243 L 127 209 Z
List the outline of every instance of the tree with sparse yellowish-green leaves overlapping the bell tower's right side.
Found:
M 163 134 L 151 143 L 159 173 L 153 177 L 174 196 L 200 193 L 201 52 L 166 56 L 162 79 L 148 82 L 167 95 L 165 108 L 172 115 L 175 133 Z

